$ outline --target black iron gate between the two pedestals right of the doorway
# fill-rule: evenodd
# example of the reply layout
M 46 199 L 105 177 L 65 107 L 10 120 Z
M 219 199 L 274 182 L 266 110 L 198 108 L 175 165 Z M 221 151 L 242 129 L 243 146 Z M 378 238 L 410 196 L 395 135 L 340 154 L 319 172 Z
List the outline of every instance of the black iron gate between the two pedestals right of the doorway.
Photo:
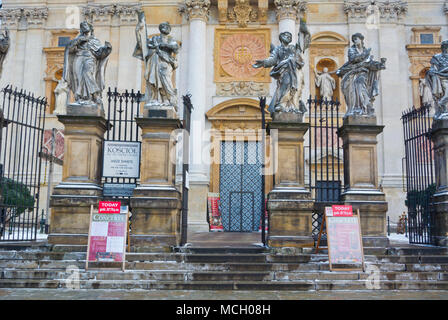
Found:
M 313 237 L 317 240 L 326 206 L 341 202 L 343 181 L 342 142 L 337 130 L 342 123 L 338 101 L 308 100 L 308 185 L 314 200 Z M 325 240 L 325 239 L 324 239 Z

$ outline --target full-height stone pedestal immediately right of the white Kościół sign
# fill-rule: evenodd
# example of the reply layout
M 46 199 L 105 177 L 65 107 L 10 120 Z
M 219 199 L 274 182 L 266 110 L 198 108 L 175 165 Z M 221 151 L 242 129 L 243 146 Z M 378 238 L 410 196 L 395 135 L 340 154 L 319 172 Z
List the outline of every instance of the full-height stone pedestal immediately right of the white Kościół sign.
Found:
M 142 128 L 141 182 L 131 198 L 131 248 L 170 251 L 180 242 L 181 194 L 175 188 L 178 119 L 139 118 Z

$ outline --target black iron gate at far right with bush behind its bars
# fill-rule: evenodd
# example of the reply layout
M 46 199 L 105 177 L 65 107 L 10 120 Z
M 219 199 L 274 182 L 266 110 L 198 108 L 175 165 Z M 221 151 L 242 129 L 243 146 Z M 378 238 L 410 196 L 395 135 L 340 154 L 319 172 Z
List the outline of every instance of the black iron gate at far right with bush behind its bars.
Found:
M 430 105 L 403 113 L 406 206 L 408 208 L 409 242 L 435 244 L 433 195 L 434 156 L 431 141 Z

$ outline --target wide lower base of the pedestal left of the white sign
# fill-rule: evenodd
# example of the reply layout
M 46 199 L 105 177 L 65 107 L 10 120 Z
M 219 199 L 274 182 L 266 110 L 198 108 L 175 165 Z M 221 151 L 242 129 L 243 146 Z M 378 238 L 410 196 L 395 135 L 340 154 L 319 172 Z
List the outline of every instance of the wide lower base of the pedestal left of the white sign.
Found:
M 95 184 L 61 183 L 51 196 L 50 244 L 87 245 L 90 206 L 98 206 L 102 188 Z

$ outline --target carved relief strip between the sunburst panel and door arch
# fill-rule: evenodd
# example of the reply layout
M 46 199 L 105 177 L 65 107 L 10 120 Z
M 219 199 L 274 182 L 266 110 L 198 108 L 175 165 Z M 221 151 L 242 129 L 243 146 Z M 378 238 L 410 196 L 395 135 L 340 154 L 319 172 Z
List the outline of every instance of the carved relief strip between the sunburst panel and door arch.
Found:
M 253 81 L 235 81 L 229 83 L 217 83 L 216 94 L 218 96 L 248 96 L 257 97 L 269 94 L 268 83 L 257 83 Z

